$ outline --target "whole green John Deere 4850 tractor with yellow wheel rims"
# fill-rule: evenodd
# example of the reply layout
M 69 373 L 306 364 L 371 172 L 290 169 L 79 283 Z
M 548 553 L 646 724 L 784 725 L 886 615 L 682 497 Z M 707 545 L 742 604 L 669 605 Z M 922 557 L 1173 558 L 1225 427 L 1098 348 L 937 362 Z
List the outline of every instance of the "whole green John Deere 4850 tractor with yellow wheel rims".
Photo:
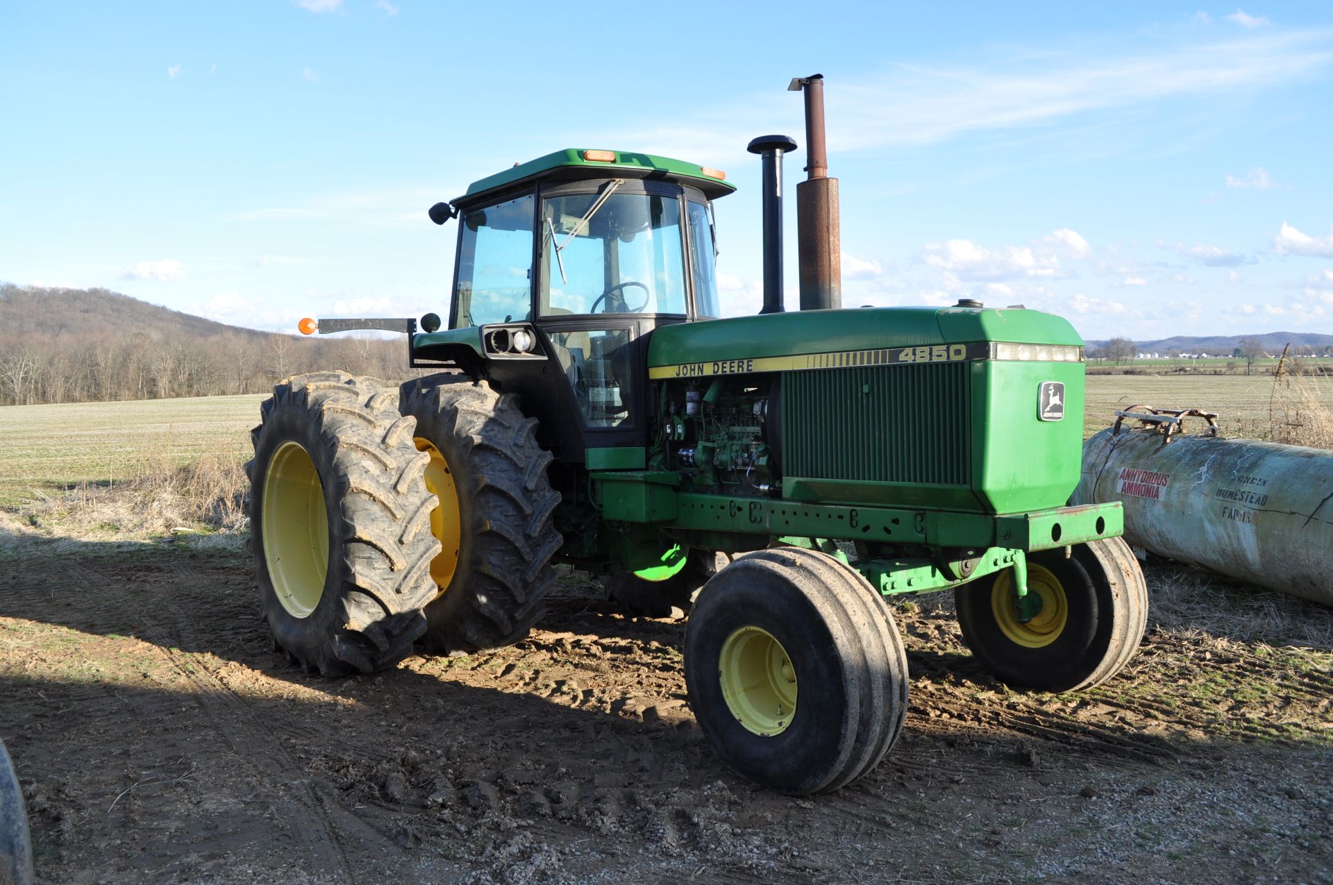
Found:
M 788 793 L 849 784 L 897 740 L 892 596 L 953 590 L 976 661 L 1010 685 L 1068 692 L 1124 668 L 1148 604 L 1120 505 L 1064 506 L 1082 340 L 1021 307 L 837 309 L 829 179 L 801 207 L 814 309 L 784 312 L 794 147 L 750 144 L 760 316 L 717 319 L 721 172 L 567 149 L 431 209 L 459 227 L 447 324 L 305 321 L 407 332 L 409 365 L 436 373 L 307 375 L 265 401 L 251 517 L 276 645 L 345 674 L 413 644 L 511 644 L 553 562 L 641 609 L 694 597 L 690 709 L 732 768 Z

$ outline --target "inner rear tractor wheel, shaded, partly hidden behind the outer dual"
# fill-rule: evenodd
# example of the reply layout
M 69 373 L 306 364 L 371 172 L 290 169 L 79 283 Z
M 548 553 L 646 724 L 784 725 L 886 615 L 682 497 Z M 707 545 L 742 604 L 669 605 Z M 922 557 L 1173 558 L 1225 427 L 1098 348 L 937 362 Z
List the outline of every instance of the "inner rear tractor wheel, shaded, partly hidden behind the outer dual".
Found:
M 448 474 L 455 498 L 441 494 L 444 522 L 456 526 L 437 520 L 448 541 L 432 566 L 439 598 L 425 609 L 424 642 L 433 652 L 512 645 L 545 613 L 551 557 L 563 542 L 537 421 L 513 393 L 468 379 L 408 381 L 400 409 L 416 419 L 416 445 L 433 449 L 432 470 Z

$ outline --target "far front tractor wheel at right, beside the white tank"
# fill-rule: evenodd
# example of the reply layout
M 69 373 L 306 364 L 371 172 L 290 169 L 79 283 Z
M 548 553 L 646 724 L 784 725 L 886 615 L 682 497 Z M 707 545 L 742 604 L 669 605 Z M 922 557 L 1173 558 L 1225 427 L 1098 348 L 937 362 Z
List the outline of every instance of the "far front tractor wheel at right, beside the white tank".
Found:
M 1013 609 L 1012 570 L 954 590 L 958 626 L 977 661 L 1000 681 L 1044 692 L 1101 685 L 1129 664 L 1148 624 L 1148 585 L 1122 538 L 1098 538 L 1028 558 L 1041 609 Z

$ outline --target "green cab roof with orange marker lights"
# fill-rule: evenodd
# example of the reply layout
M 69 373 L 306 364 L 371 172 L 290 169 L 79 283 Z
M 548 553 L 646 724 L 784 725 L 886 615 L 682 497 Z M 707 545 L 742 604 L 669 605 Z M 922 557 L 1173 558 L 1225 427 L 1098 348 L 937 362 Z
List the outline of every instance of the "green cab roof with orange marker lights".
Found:
M 612 160 L 588 160 L 587 155 L 613 155 Z M 714 169 L 708 172 L 716 173 Z M 460 208 L 481 203 L 484 197 L 495 191 L 508 188 L 524 181 L 541 181 L 547 179 L 596 179 L 596 177 L 625 177 L 625 179 L 657 179 L 688 184 L 704 192 L 709 200 L 724 197 L 736 189 L 736 185 L 724 181 L 716 175 L 704 172 L 704 167 L 670 157 L 659 157 L 652 153 L 637 153 L 633 151 L 591 151 L 588 148 L 565 148 L 548 153 L 528 163 L 516 164 L 512 169 L 487 176 L 480 181 L 473 181 L 468 192 L 453 201 Z

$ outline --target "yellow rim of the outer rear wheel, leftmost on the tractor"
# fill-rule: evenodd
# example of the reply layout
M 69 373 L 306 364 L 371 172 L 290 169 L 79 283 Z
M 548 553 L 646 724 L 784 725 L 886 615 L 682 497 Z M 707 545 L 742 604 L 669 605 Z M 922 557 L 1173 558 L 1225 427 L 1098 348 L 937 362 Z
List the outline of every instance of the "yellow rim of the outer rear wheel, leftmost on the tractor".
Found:
M 277 446 L 264 474 L 264 562 L 277 601 L 308 617 L 324 596 L 329 570 L 329 521 L 324 485 L 300 442 Z

